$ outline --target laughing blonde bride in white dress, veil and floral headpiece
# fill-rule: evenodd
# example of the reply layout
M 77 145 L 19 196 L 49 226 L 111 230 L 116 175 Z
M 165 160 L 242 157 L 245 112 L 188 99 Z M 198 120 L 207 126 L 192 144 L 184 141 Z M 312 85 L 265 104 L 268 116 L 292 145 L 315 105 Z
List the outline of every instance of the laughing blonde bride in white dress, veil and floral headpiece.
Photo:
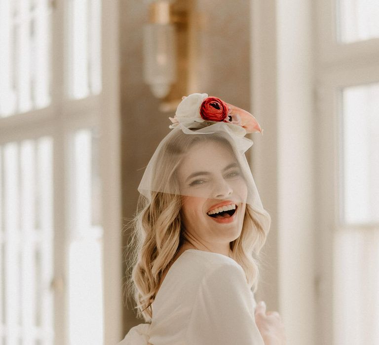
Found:
M 280 315 L 253 295 L 270 216 L 244 136 L 262 130 L 207 96 L 183 98 L 139 185 L 128 289 L 148 323 L 119 345 L 284 344 Z

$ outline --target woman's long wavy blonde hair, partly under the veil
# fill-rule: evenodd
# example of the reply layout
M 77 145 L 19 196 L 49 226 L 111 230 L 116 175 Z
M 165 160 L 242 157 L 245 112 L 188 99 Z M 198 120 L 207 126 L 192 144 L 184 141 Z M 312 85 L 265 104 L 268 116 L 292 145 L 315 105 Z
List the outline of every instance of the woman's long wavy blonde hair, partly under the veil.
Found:
M 164 144 L 159 152 L 154 170 L 155 183 L 172 183 L 179 189 L 177 168 L 184 153 L 194 143 L 213 140 L 227 147 L 238 159 L 238 153 L 230 144 L 230 138 L 222 133 L 207 135 L 184 135 L 182 131 Z M 154 183 L 154 182 L 153 182 Z M 154 185 L 154 184 L 153 184 Z M 182 198 L 179 193 L 168 194 L 151 191 L 150 198 L 140 195 L 137 211 L 129 221 L 127 228 L 132 229 L 129 250 L 126 253 L 127 297 L 137 303 L 137 316 L 146 322 L 152 319 L 151 304 L 158 292 L 163 272 L 168 267 L 181 245 L 185 234 L 181 218 Z M 231 258 L 243 268 L 247 283 L 253 292 L 258 288 L 259 252 L 265 244 L 269 231 L 258 221 L 258 214 L 270 217 L 264 210 L 253 209 L 246 204 L 241 235 L 230 242 Z M 129 260 L 129 261 L 128 261 Z

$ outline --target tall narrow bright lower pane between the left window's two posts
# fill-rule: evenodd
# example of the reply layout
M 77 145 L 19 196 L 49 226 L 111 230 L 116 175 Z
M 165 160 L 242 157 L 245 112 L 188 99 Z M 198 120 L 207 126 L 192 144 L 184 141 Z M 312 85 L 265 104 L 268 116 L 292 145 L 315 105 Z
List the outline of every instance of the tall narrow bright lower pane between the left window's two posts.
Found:
M 70 344 L 103 344 L 103 229 L 98 139 L 91 130 L 73 136 L 69 247 Z

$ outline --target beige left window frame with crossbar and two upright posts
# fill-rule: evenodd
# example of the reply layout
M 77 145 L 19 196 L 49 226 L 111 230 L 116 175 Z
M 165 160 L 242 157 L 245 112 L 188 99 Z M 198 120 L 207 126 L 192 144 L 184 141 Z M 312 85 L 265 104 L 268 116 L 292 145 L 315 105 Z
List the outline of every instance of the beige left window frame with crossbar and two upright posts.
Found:
M 72 131 L 95 127 L 100 133 L 100 174 L 102 180 L 104 344 L 116 344 L 122 336 L 122 260 L 120 197 L 120 123 L 118 81 L 118 3 L 102 0 L 102 90 L 100 95 L 83 100 L 67 96 L 68 78 L 65 56 L 68 43 L 67 1 L 51 1 L 52 55 L 51 104 L 43 109 L 0 118 L 0 145 L 9 141 L 50 136 L 53 139 L 53 218 L 54 218 L 54 328 L 55 345 L 68 345 L 66 273 L 69 228 L 68 167 L 69 142 Z M 66 60 L 66 61 L 65 61 Z M 64 64 L 66 68 L 63 69 Z

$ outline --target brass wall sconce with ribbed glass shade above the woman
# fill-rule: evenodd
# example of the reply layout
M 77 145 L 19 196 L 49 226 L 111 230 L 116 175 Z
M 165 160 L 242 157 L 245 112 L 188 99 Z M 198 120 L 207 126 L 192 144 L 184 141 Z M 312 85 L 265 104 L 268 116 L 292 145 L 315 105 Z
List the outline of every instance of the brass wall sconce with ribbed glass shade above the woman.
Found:
M 188 5 L 186 0 L 149 1 L 149 23 L 143 33 L 144 81 L 161 101 L 162 111 L 176 107 L 187 92 Z

